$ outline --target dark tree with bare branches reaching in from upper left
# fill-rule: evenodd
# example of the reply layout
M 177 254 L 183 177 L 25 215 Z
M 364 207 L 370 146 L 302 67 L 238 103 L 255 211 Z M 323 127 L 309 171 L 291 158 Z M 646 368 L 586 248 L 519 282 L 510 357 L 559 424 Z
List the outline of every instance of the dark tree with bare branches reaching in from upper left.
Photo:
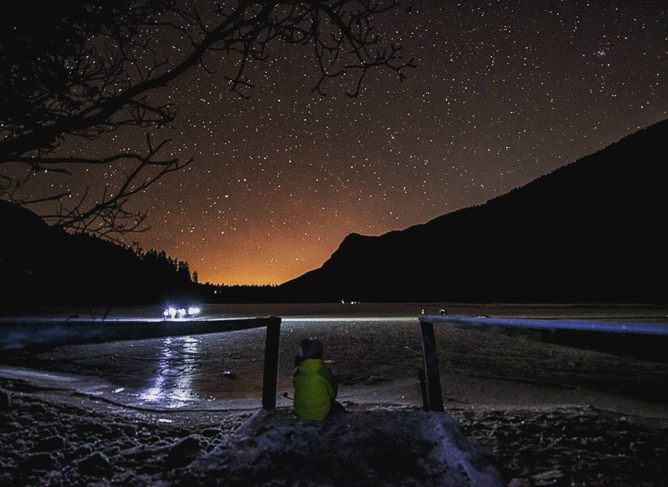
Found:
M 146 213 L 127 209 L 132 195 L 192 159 L 160 158 L 170 139 L 157 143 L 146 133 L 144 151 L 79 157 L 67 153 L 71 137 L 96 140 L 120 127 L 150 132 L 176 117 L 156 89 L 206 62 L 228 67 L 220 77 L 240 97 L 253 81 L 249 60 L 267 61 L 275 40 L 310 44 L 319 71 L 313 91 L 325 95 L 325 82 L 347 71 L 359 75 L 349 90 L 356 97 L 367 71 L 387 68 L 399 79 L 413 66 L 400 46 L 380 43 L 376 15 L 400 0 L 223 1 L 204 15 L 169 0 L 14 3 L 0 20 L 0 198 L 21 205 L 60 201 L 42 216 L 65 229 L 142 231 Z M 162 31 L 168 31 L 164 33 Z M 186 49 L 160 57 L 156 38 L 176 35 Z M 223 68 L 224 71 L 224 68 Z M 29 199 L 27 183 L 50 183 L 50 174 L 75 174 L 77 167 L 114 165 L 122 179 L 116 189 L 93 197 L 86 190 L 72 201 L 54 191 Z M 113 172 L 113 171 L 112 171 Z M 47 187 L 47 186 L 44 186 Z M 108 185 L 110 187 L 110 185 Z M 55 206 L 55 205 L 54 205 Z

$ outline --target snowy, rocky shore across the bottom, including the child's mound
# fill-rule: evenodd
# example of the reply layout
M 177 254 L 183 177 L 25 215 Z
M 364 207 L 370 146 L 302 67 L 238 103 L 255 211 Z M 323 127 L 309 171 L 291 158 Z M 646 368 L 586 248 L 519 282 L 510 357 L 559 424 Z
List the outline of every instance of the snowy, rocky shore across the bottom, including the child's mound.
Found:
M 668 479 L 665 424 L 585 406 L 450 410 L 481 458 L 460 434 L 447 436 L 447 416 L 414 410 L 374 408 L 314 425 L 285 409 L 154 414 L 1 385 L 0 485 L 493 485 L 489 464 L 512 486 Z M 459 450 L 448 454 L 453 438 Z M 476 468 L 452 472 L 448 462 Z

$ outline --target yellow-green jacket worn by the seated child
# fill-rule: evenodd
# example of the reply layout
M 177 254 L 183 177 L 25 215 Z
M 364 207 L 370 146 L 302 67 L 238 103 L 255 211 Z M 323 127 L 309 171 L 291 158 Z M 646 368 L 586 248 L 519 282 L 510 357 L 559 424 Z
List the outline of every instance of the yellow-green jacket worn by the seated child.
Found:
M 295 369 L 295 412 L 305 421 L 322 421 L 336 399 L 337 385 L 331 370 L 319 358 L 304 360 Z

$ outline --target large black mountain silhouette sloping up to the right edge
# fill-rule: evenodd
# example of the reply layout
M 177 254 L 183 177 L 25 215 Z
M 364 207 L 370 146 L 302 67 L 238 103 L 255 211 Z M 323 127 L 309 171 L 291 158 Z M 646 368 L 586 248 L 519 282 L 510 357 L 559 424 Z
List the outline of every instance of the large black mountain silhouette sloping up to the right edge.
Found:
M 668 120 L 482 205 L 351 233 L 305 301 L 667 302 Z M 299 298 L 298 298 L 299 299 Z

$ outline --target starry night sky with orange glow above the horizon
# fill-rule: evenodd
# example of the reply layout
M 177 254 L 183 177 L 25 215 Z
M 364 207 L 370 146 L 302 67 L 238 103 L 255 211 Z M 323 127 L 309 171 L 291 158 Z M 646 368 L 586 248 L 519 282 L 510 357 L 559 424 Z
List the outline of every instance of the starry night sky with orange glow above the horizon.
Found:
M 356 99 L 345 95 L 353 75 L 312 93 L 312 50 L 280 43 L 248 67 L 251 99 L 203 69 L 158 93 L 179 113 L 156 137 L 174 138 L 166 155 L 195 160 L 134 199 L 151 229 L 125 241 L 187 260 L 200 282 L 279 284 L 350 232 L 483 203 L 668 117 L 664 0 L 416 1 L 377 29 L 418 67 L 401 83 L 371 73 Z M 181 55 L 178 40 L 158 40 Z M 65 148 L 138 150 L 143 139 L 128 129 Z M 51 184 L 113 188 L 116 171 Z

